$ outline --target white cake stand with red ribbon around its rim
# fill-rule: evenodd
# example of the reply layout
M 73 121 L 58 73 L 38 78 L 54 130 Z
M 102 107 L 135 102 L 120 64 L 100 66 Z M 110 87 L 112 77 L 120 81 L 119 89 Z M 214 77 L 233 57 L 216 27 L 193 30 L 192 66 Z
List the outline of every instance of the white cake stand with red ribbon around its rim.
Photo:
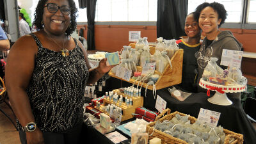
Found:
M 199 86 L 207 89 L 208 91 L 216 91 L 216 93 L 210 97 L 208 101 L 212 104 L 218 104 L 221 106 L 228 106 L 232 104 L 232 101 L 228 99 L 226 93 L 238 93 L 246 90 L 246 85 L 243 84 L 228 84 L 227 86 L 224 86 L 204 81 L 202 78 L 199 81 Z

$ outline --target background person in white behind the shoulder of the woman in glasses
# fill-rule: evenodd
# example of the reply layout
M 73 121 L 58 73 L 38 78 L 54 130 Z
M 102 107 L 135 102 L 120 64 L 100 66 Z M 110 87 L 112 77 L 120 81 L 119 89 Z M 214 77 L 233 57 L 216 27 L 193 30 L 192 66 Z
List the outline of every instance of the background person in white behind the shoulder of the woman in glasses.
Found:
M 24 18 L 23 13 L 19 12 L 19 28 L 20 28 L 20 36 L 28 35 L 31 33 L 31 29 L 29 28 L 28 22 Z

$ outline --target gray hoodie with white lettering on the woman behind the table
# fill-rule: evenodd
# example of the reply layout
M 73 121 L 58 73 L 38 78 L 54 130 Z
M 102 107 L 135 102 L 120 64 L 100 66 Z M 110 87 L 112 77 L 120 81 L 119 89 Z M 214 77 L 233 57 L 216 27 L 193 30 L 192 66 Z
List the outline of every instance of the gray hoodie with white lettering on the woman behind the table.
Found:
M 212 44 L 210 44 L 208 47 L 205 46 L 206 37 L 204 38 L 199 51 L 195 54 L 198 63 L 198 82 L 202 77 L 204 68 L 210 61 L 211 57 L 218 58 L 218 61 L 216 61 L 217 65 L 223 69 L 226 69 L 227 67 L 220 65 L 223 49 L 241 51 L 242 44 L 238 42 L 231 31 L 221 31 L 221 33 L 216 36 L 215 40 L 212 41 Z

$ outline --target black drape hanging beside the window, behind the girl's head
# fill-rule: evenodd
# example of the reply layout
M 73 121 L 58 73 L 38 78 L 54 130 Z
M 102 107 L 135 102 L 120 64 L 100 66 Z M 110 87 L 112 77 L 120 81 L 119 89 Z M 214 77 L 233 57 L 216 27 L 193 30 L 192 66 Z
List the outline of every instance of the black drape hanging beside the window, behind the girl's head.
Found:
M 188 0 L 157 0 L 157 38 L 179 39 L 184 33 Z

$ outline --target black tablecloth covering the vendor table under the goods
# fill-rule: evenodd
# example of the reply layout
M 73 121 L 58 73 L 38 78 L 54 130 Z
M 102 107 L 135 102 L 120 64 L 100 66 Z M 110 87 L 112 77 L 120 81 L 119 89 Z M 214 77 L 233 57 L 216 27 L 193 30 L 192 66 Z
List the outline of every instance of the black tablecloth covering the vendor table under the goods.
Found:
M 122 87 L 131 86 L 130 83 L 127 83 L 125 81 L 122 81 L 121 83 L 119 79 L 115 79 L 113 77 L 109 79 L 108 83 L 111 84 L 112 89 L 120 88 L 121 84 Z M 221 113 L 218 125 L 221 125 L 225 129 L 228 129 L 230 131 L 243 134 L 244 143 L 246 144 L 256 143 L 256 131 L 250 120 L 248 120 L 246 113 L 244 113 L 239 99 L 228 97 L 228 99 L 230 99 L 233 104 L 231 104 L 230 106 L 220 106 L 208 102 L 207 99 L 209 97 L 207 97 L 206 93 L 193 93 L 186 100 L 179 101 L 173 98 L 167 89 L 168 88 L 157 90 L 157 95 L 161 96 L 164 100 L 166 100 L 166 108 L 170 108 L 172 112 L 179 111 L 180 113 L 185 113 L 191 116 L 195 116 L 195 118 L 197 118 L 200 108 L 217 111 Z M 142 88 L 141 93 L 141 95 L 145 95 L 145 88 Z M 155 104 L 156 100 L 152 95 L 152 91 L 147 90 L 147 97 L 144 97 L 144 107 L 155 110 Z M 97 130 L 95 131 L 97 132 Z M 93 133 L 94 132 L 91 132 L 91 134 Z M 106 137 L 104 139 L 108 140 L 108 138 Z M 108 142 L 104 141 L 104 143 Z

